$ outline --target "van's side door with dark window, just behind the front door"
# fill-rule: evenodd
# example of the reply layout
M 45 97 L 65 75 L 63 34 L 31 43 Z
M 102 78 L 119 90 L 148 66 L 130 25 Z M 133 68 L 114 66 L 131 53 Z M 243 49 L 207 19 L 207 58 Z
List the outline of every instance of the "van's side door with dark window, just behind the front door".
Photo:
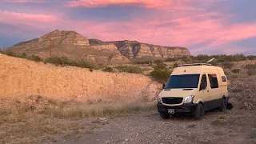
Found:
M 217 108 L 222 102 L 222 90 L 219 83 L 218 74 L 207 74 L 210 82 L 210 109 Z

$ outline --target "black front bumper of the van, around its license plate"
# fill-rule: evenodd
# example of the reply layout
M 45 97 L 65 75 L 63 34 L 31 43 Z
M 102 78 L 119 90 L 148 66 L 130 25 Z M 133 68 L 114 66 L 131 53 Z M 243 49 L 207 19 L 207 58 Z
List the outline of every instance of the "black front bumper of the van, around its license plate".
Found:
M 197 103 L 184 103 L 180 106 L 166 106 L 162 103 L 158 102 L 158 112 L 159 113 L 168 113 L 168 109 L 174 109 L 174 114 L 176 113 L 190 113 L 194 112 L 196 107 L 198 106 Z

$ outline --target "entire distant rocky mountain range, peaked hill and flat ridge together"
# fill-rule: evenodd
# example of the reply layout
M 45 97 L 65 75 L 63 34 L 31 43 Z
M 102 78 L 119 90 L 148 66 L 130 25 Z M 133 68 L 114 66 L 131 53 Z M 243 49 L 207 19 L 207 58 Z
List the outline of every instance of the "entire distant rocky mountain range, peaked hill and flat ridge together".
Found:
M 65 30 L 54 30 L 41 38 L 20 42 L 7 50 L 16 54 L 37 54 L 42 58 L 48 58 L 49 38 L 52 39 L 52 55 L 100 63 L 126 63 L 134 58 L 173 58 L 190 55 L 190 51 L 184 47 L 155 46 L 127 40 L 103 42 L 98 39 L 87 39 L 75 31 Z

